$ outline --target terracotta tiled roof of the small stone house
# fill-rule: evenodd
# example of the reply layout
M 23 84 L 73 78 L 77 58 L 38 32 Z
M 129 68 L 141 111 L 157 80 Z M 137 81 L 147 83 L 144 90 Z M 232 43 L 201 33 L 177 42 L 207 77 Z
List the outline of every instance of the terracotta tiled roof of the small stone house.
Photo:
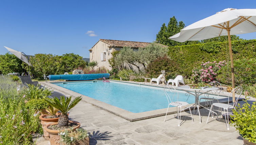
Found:
M 135 42 L 135 41 L 121 41 L 121 40 L 109 40 L 109 39 L 99 39 L 107 44 L 109 47 L 123 48 L 123 47 L 131 47 L 131 48 L 145 48 L 149 45 L 149 42 Z M 163 45 L 164 46 L 164 45 Z M 167 46 L 164 46 L 167 47 Z

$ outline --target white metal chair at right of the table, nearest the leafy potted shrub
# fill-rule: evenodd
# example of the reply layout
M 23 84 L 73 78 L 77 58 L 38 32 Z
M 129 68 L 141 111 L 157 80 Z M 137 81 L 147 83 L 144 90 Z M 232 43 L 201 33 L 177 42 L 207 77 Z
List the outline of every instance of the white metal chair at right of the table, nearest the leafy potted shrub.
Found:
M 213 107 L 214 106 L 221 108 L 221 110 L 223 109 L 224 110 L 224 114 L 226 114 L 226 113 L 228 114 L 228 109 L 235 109 L 235 107 L 237 105 L 237 102 L 238 102 L 242 92 L 243 92 L 243 88 L 242 87 L 236 87 L 228 95 L 228 103 L 227 104 L 224 104 L 224 103 L 213 103 L 212 106 L 211 106 L 210 112 L 208 114 L 208 118 L 207 118 L 206 123 L 208 123 L 209 116 L 210 116 L 211 112 L 213 112 Z M 230 98 L 232 98 L 232 96 L 233 96 L 232 94 L 233 93 L 235 95 L 238 95 L 238 96 L 237 96 L 235 102 L 232 102 L 233 105 L 230 105 L 229 100 L 230 100 Z M 226 112 L 225 112 L 225 110 L 226 110 Z M 213 113 L 212 113 L 212 118 L 214 118 Z M 226 121 L 227 130 L 229 130 L 228 115 L 225 115 L 225 121 Z

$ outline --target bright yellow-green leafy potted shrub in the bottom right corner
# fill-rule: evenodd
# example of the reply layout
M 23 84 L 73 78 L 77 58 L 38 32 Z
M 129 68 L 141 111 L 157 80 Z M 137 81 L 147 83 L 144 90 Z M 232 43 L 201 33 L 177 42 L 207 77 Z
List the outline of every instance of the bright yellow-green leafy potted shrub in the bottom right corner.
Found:
M 231 125 L 236 128 L 243 138 L 244 145 L 256 145 L 256 102 L 252 105 L 247 103 L 233 110 Z

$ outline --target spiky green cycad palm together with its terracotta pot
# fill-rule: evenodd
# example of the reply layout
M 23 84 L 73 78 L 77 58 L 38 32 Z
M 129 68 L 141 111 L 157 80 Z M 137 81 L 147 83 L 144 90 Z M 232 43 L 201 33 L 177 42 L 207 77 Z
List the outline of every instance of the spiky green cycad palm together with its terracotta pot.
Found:
M 57 97 L 53 99 L 44 98 L 50 106 L 53 106 L 60 110 L 62 113 L 59 116 L 58 122 L 47 124 L 44 128 L 46 132 L 48 132 L 50 136 L 50 144 L 51 145 L 59 145 L 59 133 L 64 131 L 67 128 L 72 127 L 72 129 L 76 129 L 80 127 L 80 123 L 77 121 L 71 121 L 68 117 L 68 111 L 73 108 L 80 100 L 81 97 L 76 97 L 71 101 L 71 96 L 65 99 L 64 96 L 60 97 L 60 100 Z

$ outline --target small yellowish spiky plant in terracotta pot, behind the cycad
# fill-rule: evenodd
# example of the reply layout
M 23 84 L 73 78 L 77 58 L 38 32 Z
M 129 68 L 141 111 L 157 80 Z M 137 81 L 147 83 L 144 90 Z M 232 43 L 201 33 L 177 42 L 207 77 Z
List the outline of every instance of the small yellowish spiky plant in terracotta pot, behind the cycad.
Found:
M 43 138 L 46 140 L 49 140 L 50 136 L 48 132 L 44 130 L 44 127 L 47 124 L 58 122 L 60 113 L 58 113 L 59 110 L 53 106 L 49 106 L 49 108 L 45 108 L 45 110 L 47 113 L 43 113 L 42 115 L 40 115 L 39 119 L 41 120 L 41 124 L 43 128 Z

